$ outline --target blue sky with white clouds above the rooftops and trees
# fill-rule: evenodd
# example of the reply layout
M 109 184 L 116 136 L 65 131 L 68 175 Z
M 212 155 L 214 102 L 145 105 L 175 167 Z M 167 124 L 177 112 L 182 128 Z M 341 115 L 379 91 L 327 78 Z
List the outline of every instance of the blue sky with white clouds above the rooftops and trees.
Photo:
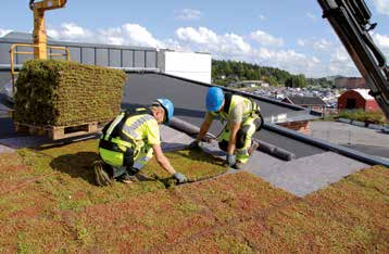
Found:
M 0 36 L 30 31 L 26 1 L 2 0 Z M 366 0 L 378 27 L 372 35 L 389 59 L 389 0 Z M 316 0 L 91 1 L 68 0 L 47 13 L 60 40 L 206 51 L 303 73 L 359 75 Z

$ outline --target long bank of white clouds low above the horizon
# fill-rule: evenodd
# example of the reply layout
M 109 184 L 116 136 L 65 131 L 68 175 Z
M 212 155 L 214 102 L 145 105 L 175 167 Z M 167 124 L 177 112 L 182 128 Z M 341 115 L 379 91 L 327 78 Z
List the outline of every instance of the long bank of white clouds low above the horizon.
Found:
M 1 30 L 0 30 L 1 31 Z M 206 27 L 180 27 L 172 38 L 156 39 L 146 27 L 139 24 L 124 24 L 89 30 L 74 23 L 65 23 L 58 29 L 50 28 L 49 35 L 54 39 L 80 42 L 114 43 L 143 46 L 154 48 L 173 48 L 181 51 L 210 52 L 215 59 L 226 59 L 256 63 L 262 66 L 273 66 L 293 74 L 303 73 L 309 77 L 322 77 L 335 74 L 357 75 L 353 62 L 347 52 L 335 42 L 325 39 L 299 39 L 298 45 L 315 48 L 317 51 L 327 50 L 328 59 L 323 54 L 303 54 L 291 49 L 277 50 L 272 46 L 281 46 L 283 39 L 275 38 L 264 31 L 256 30 L 249 35 L 235 33 L 217 34 Z M 373 37 L 382 48 L 388 49 L 388 36 L 374 34 Z M 250 45 L 246 38 L 261 42 Z

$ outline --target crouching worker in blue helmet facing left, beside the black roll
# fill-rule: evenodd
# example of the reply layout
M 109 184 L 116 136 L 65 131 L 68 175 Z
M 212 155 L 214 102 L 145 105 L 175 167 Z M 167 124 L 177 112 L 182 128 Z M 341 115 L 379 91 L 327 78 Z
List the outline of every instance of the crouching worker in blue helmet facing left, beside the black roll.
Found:
M 258 142 L 252 140 L 252 136 L 261 129 L 263 122 L 259 105 L 251 99 L 225 94 L 221 88 L 211 87 L 206 94 L 206 110 L 200 132 L 189 148 L 199 147 L 213 119 L 218 116 L 222 123 L 227 122 L 218 137 L 219 148 L 227 152 L 226 163 L 236 169 L 242 168 L 259 147 Z

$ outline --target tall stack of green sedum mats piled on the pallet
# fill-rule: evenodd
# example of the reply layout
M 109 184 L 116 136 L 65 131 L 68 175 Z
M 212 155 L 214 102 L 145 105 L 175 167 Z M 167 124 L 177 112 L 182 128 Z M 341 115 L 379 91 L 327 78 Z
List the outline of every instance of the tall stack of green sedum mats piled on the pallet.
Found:
M 60 60 L 27 61 L 16 81 L 14 119 L 68 126 L 104 122 L 120 112 L 126 75 Z

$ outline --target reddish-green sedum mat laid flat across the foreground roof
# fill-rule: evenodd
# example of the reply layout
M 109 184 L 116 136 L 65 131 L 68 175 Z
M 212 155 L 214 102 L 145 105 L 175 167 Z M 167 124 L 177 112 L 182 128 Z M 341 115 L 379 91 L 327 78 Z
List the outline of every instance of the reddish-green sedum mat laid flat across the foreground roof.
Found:
M 0 154 L 0 252 L 389 250 L 388 168 L 367 168 L 303 199 L 247 173 L 166 189 L 154 161 L 143 172 L 151 179 L 98 188 L 89 168 L 96 147 Z M 225 170 L 199 152 L 166 155 L 192 178 Z

